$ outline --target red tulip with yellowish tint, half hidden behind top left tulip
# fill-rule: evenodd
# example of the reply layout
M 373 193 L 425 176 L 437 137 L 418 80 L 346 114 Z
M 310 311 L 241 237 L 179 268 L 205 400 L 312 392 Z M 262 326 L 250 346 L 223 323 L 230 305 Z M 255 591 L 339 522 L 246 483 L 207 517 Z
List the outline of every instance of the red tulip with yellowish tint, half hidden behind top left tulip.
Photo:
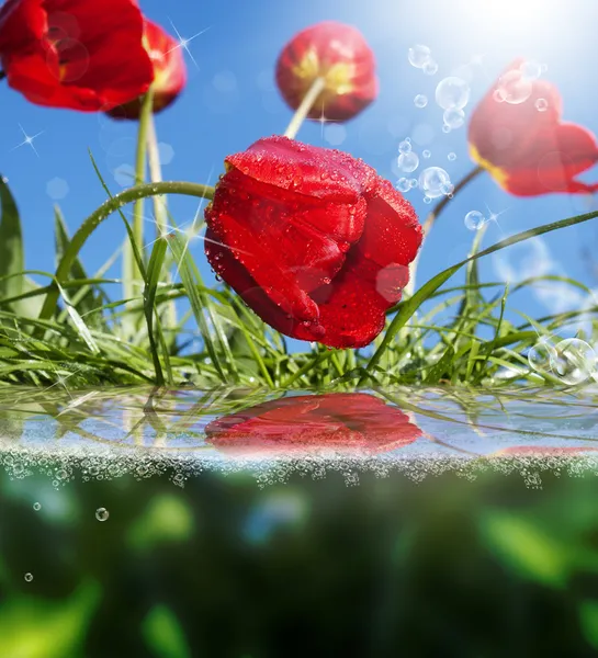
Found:
M 154 67 L 154 113 L 168 107 L 181 93 L 187 83 L 187 68 L 179 42 L 167 34 L 159 25 L 146 19 L 143 44 Z M 139 118 L 142 102 L 139 98 L 108 114 L 114 118 Z

